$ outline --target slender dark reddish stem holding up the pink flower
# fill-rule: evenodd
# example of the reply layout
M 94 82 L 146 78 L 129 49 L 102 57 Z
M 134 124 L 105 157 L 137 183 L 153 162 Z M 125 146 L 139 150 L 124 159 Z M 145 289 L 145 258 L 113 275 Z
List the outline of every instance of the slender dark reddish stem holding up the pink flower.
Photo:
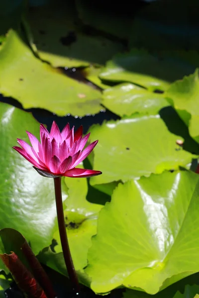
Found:
M 68 275 L 71 280 L 73 289 L 76 292 L 76 295 L 79 295 L 80 285 L 78 282 L 78 277 L 71 257 L 71 252 L 70 252 L 69 242 L 68 242 L 68 237 L 66 232 L 65 219 L 64 219 L 61 177 L 54 178 L 54 185 L 55 185 L 55 200 L 56 200 L 56 208 L 57 208 L 57 220 L 58 220 L 59 234 L 60 234 L 60 239 L 62 244 L 64 260 L 65 260 L 66 268 L 67 268 Z

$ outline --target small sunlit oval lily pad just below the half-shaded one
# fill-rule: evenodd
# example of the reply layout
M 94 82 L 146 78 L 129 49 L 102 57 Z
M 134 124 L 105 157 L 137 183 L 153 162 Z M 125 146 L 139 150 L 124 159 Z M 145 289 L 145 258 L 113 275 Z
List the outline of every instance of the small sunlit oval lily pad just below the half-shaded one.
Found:
M 103 105 L 119 116 L 133 113 L 156 115 L 169 105 L 162 94 L 150 92 L 131 83 L 116 85 L 103 91 Z

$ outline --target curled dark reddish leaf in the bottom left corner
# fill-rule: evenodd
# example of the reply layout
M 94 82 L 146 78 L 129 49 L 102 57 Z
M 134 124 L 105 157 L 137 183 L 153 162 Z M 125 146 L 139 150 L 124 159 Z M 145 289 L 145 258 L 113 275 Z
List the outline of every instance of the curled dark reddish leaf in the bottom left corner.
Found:
M 56 296 L 46 272 L 18 231 L 12 228 L 0 230 L 0 259 L 28 297 L 46 298 L 43 289 L 49 298 Z

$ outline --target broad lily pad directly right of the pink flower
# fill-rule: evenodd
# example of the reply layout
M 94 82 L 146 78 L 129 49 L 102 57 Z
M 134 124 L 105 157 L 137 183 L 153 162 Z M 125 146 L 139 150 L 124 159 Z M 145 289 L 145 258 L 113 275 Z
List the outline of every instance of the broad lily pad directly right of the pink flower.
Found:
M 99 139 L 94 168 L 103 173 L 91 177 L 92 185 L 178 169 L 193 158 L 176 144 L 183 139 L 171 134 L 159 115 L 126 117 L 94 125 L 90 131 L 91 142 Z

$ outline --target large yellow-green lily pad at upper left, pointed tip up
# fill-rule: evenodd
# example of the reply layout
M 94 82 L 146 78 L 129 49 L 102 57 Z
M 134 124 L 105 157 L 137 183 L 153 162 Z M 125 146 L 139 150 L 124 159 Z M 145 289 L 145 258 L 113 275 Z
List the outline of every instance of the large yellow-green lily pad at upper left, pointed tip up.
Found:
M 60 116 L 84 116 L 101 109 L 100 91 L 41 62 L 13 30 L 0 50 L 0 92 L 25 109 L 39 107 Z

